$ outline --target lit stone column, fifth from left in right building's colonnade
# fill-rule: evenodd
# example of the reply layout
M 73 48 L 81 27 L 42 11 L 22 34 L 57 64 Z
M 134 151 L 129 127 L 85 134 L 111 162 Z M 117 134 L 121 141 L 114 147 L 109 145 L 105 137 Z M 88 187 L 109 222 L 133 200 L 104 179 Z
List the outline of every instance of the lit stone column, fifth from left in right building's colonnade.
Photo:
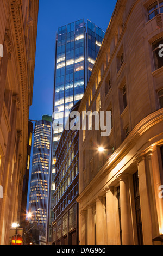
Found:
M 128 174 L 121 174 L 119 176 L 119 180 L 120 180 L 122 243 L 123 245 L 133 245 L 133 231 L 132 231 L 132 225 L 131 225 Z

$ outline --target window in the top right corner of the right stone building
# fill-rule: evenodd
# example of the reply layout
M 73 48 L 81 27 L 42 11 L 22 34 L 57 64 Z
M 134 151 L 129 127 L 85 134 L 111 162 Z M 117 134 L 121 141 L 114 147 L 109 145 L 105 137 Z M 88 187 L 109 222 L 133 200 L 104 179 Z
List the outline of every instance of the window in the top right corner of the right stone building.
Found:
M 153 19 L 156 15 L 163 13 L 163 1 L 158 0 L 155 1 L 153 4 L 149 5 L 147 8 L 148 11 L 148 20 Z

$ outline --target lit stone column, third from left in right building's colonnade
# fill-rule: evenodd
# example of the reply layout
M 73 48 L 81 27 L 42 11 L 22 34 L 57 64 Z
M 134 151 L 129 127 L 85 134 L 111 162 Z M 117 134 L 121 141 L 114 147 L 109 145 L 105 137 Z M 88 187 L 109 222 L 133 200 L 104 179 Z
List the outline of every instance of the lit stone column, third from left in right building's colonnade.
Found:
M 96 197 L 96 244 L 104 245 L 104 212 L 102 197 Z

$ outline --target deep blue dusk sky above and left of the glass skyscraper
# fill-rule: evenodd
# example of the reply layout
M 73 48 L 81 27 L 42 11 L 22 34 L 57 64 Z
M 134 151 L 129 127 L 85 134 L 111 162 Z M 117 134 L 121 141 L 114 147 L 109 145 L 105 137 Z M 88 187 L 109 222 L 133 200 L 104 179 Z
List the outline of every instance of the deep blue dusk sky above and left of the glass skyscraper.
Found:
M 106 31 L 117 0 L 40 0 L 33 104 L 29 119 L 52 114 L 55 35 L 58 27 L 84 18 Z

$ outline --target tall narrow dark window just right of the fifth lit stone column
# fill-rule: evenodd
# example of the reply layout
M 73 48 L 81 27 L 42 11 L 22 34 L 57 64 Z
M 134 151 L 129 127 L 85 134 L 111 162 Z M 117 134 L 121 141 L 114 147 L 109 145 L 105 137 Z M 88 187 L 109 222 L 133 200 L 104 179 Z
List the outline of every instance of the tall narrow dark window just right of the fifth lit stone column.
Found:
M 141 208 L 140 208 L 140 194 L 139 194 L 139 174 L 138 174 L 138 172 L 136 172 L 133 175 L 133 182 L 134 182 L 134 197 L 135 197 L 135 211 L 136 211 L 136 224 L 137 224 L 137 238 L 138 238 L 139 245 L 143 245 Z

